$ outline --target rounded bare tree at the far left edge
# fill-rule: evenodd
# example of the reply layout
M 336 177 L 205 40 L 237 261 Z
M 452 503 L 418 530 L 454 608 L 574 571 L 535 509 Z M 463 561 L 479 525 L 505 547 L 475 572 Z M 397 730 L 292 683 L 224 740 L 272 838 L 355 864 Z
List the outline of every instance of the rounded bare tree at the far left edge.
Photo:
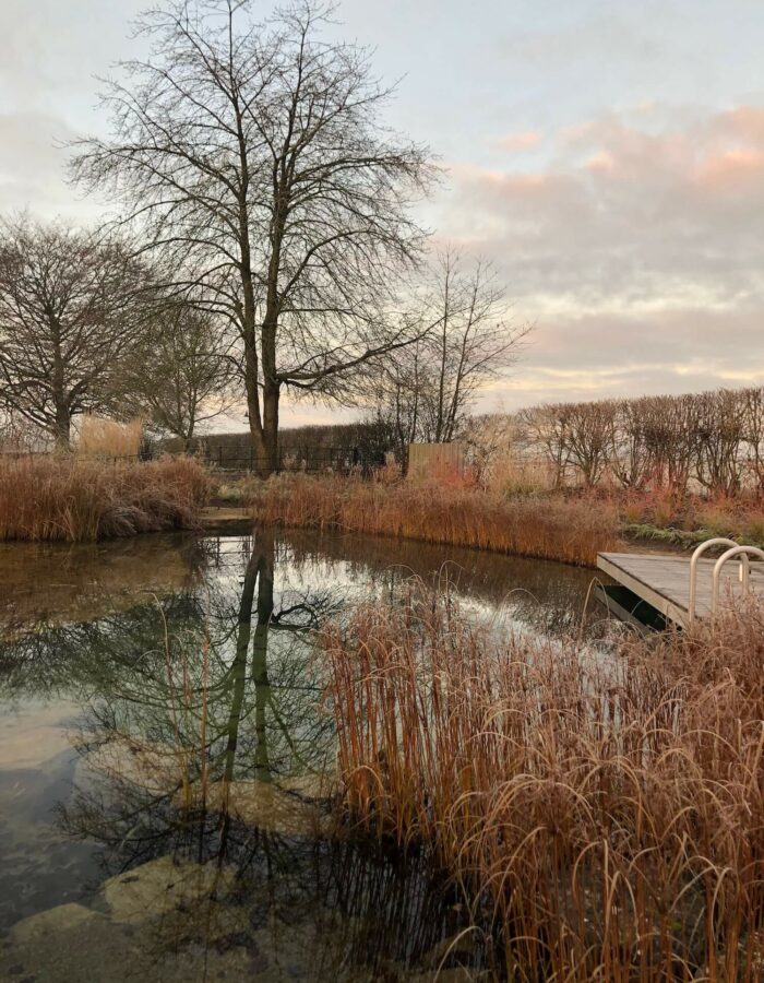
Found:
M 69 445 L 72 417 L 108 411 L 139 331 L 143 270 L 116 239 L 0 225 L 0 403 Z

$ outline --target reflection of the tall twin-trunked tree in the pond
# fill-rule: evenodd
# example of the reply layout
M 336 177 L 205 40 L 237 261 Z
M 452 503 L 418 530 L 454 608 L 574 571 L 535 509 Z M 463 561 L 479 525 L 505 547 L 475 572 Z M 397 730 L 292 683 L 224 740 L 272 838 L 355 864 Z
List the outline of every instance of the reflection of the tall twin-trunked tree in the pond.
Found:
M 182 617 L 163 601 L 160 617 L 146 605 L 128 618 L 57 630 L 55 642 L 48 639 L 72 655 L 86 646 L 89 654 L 80 652 L 80 664 L 106 667 L 94 678 L 79 751 L 91 790 L 99 775 L 102 787 L 129 804 L 114 822 L 114 834 L 100 831 L 99 839 L 112 849 L 130 841 L 145 853 L 142 814 L 147 807 L 174 824 L 199 827 L 201 819 L 205 829 L 217 822 L 225 833 L 232 821 L 231 787 L 237 790 L 234 808 L 251 813 L 248 781 L 321 773 L 333 758 L 333 727 L 314 706 L 321 686 L 319 679 L 311 683 L 310 637 L 303 630 L 318 625 L 325 592 L 317 605 L 309 594 L 298 603 L 293 596 L 289 620 L 279 624 L 273 540 L 260 536 L 251 545 L 237 605 L 231 605 L 230 589 L 218 588 L 206 594 L 204 605 L 189 601 Z M 296 612 L 299 627 L 293 625 Z M 272 628 L 279 636 L 278 700 L 268 666 Z M 284 801 L 291 794 L 285 792 Z M 92 795 L 88 802 L 81 794 L 79 804 L 83 815 L 93 816 L 108 808 L 108 796 L 94 803 Z M 225 834 L 219 845 L 225 853 Z

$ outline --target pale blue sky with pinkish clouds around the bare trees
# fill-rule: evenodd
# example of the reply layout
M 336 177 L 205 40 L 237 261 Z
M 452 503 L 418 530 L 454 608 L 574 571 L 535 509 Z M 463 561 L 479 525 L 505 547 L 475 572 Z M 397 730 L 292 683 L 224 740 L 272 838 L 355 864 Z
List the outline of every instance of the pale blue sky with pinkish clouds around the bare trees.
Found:
M 0 212 L 97 217 L 60 143 L 106 132 L 94 76 L 136 54 L 145 5 L 1 0 Z M 337 17 L 398 80 L 391 125 L 443 168 L 434 245 L 491 260 L 535 325 L 479 410 L 764 382 L 764 0 L 343 0 Z

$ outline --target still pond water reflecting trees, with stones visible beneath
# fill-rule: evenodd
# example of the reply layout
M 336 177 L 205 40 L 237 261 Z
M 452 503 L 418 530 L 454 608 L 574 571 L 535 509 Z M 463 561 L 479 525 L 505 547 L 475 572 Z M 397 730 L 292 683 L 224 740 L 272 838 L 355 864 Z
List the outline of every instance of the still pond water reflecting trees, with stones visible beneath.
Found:
M 459 899 L 331 814 L 314 629 L 413 577 L 549 632 L 593 579 L 308 533 L 0 544 L 0 980 L 478 978 Z

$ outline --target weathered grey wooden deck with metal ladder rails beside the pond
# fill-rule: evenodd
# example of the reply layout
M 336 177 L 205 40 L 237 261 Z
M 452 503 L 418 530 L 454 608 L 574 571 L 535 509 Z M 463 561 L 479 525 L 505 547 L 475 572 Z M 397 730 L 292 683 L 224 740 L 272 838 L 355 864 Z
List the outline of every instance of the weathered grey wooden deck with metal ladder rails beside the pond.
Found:
M 711 614 L 712 575 L 714 559 L 697 562 L 697 617 Z M 633 591 L 637 597 L 652 604 L 657 611 L 679 625 L 688 623 L 690 604 L 690 559 L 684 556 L 669 556 L 640 553 L 600 553 L 597 556 L 599 569 L 618 583 Z M 721 573 L 719 597 L 740 595 L 742 587 L 738 579 L 739 564 L 731 560 Z M 751 564 L 751 591 L 764 597 L 764 564 Z

